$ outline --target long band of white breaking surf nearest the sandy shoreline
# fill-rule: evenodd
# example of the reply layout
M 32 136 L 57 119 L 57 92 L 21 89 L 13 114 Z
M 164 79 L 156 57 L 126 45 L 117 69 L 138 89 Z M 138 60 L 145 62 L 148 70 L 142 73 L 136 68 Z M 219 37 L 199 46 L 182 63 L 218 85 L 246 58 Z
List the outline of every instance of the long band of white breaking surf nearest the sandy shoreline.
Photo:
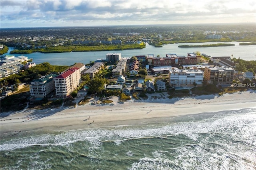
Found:
M 248 144 L 254 144 L 255 146 L 255 142 L 252 140 L 255 138 L 252 134 L 256 134 L 256 127 L 254 126 L 256 123 L 255 109 L 246 114 L 242 114 L 242 111 L 238 111 L 238 115 L 232 115 L 232 111 L 230 111 L 226 117 L 224 117 L 224 113 L 217 113 L 216 115 L 218 116 L 214 115 L 212 118 L 206 119 L 203 122 L 196 121 L 193 118 L 190 119 L 193 121 L 174 123 L 164 127 L 153 128 L 153 126 L 151 126 L 149 129 L 144 129 L 145 127 L 141 128 L 140 126 L 137 126 L 137 128 L 136 126 L 130 128 L 90 128 L 61 132 L 57 135 L 42 134 L 3 142 L 0 146 L 0 150 L 13 150 L 34 145 L 64 146 L 84 140 L 98 147 L 102 142 L 112 141 L 119 145 L 122 140 L 156 136 L 161 137 L 172 134 L 184 134 L 190 139 L 198 141 L 198 138 L 201 140 L 200 133 L 212 133 L 216 132 L 216 130 L 220 134 L 226 134 L 232 131 L 232 134 L 229 135 L 239 136 L 237 140 L 246 141 Z

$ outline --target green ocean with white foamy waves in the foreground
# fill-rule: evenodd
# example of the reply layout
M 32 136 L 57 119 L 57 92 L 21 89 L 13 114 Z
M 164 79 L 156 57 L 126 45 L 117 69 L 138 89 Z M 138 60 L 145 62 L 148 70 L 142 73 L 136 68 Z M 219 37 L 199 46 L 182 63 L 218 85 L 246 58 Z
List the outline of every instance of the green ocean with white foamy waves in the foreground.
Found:
M 256 108 L 1 138 L 1 170 L 255 170 Z

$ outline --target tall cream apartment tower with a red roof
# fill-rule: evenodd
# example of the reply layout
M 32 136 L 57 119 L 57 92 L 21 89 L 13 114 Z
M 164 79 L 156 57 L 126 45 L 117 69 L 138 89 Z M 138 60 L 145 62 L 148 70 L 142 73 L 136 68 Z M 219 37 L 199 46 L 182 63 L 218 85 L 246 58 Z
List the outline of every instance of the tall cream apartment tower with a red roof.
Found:
M 73 67 L 54 78 L 56 97 L 68 97 L 80 83 L 79 68 Z

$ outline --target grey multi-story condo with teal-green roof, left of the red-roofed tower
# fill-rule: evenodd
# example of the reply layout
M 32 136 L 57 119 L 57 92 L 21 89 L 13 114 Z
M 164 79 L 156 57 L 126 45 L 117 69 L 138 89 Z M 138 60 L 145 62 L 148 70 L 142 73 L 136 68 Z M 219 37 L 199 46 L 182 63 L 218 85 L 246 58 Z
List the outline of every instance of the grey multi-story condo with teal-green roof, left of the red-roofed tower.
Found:
M 41 77 L 40 79 L 32 80 L 30 82 L 30 95 L 35 98 L 44 98 L 49 93 L 55 90 L 54 77 L 56 74 L 49 74 Z

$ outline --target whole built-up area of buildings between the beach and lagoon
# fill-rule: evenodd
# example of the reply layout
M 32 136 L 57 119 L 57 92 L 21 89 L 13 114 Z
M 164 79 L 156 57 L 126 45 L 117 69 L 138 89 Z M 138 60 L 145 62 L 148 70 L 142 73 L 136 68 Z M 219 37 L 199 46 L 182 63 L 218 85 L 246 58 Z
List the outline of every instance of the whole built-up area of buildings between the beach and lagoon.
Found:
M 27 62 L 28 57 L 23 55 L 4 55 L 1 59 L 2 77 L 36 66 L 33 62 Z M 97 59 L 90 65 L 75 63 L 61 73 L 50 73 L 33 79 L 27 83 L 30 86 L 30 97 L 27 100 L 32 102 L 49 97 L 65 99 L 72 97 L 72 94 L 98 94 L 86 84 L 86 76 L 91 81 L 95 77 L 108 80 L 99 87 L 102 89 L 99 92 L 107 96 L 121 93 L 132 96 L 134 93 L 164 92 L 171 89 L 178 91 L 212 83 L 227 86 L 232 85 L 234 79 L 244 81 L 255 78 L 252 72 L 235 71 L 235 63 L 228 56 L 207 59 L 196 53 L 188 53 L 186 57 L 168 53 L 166 57 L 155 57 L 153 54 L 122 57 L 121 53 L 107 53 L 105 59 Z M 2 96 L 8 96 L 12 95 L 14 89 L 5 87 L 1 90 Z

